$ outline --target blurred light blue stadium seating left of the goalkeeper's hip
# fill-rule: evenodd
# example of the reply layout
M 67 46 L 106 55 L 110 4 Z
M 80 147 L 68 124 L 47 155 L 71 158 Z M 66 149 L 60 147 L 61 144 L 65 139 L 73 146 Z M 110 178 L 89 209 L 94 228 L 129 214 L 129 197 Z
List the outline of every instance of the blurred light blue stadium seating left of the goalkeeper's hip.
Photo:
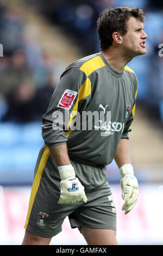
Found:
M 1 185 L 30 184 L 43 145 L 41 123 L 0 124 Z

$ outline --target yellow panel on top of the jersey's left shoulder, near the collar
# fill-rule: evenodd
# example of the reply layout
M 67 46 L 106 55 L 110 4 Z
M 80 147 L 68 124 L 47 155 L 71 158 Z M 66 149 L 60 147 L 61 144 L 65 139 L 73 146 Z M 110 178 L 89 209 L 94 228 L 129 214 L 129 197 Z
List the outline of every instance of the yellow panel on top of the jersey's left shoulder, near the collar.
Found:
M 102 58 L 100 56 L 97 56 L 95 58 L 87 60 L 87 62 L 80 66 L 80 70 L 82 70 L 87 76 L 89 76 L 93 71 L 100 69 L 103 66 L 105 66 L 105 63 L 103 62 Z

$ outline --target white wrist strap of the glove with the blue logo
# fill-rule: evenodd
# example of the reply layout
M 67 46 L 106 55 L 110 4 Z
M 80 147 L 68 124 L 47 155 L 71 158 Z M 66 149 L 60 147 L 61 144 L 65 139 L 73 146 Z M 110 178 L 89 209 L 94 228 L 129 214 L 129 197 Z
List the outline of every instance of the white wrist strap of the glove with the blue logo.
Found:
M 76 173 L 74 172 L 74 168 L 72 164 L 68 164 L 66 166 L 58 166 L 59 175 L 61 180 L 66 179 L 75 179 Z

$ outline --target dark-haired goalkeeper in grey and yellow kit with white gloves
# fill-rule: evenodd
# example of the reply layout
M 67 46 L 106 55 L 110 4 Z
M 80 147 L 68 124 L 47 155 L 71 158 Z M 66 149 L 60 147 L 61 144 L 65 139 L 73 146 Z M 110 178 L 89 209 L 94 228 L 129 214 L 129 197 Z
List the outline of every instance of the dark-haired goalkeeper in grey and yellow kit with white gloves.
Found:
M 22 245 L 49 245 L 66 216 L 88 245 L 117 245 L 106 165 L 115 159 L 120 169 L 122 210 L 128 214 L 139 188 L 128 135 L 138 85 L 127 63 L 146 53 L 143 20 L 139 8 L 106 9 L 97 21 L 101 52 L 62 73 L 43 115 L 45 145 L 36 162 Z M 88 112 L 99 114 L 92 129 L 83 123 L 73 129 Z

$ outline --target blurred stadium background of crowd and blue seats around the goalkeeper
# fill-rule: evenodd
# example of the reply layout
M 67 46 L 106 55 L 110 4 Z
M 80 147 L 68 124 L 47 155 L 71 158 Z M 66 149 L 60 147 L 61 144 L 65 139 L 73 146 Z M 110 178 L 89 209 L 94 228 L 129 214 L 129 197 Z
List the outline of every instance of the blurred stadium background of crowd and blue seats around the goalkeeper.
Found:
M 117 208 L 120 245 L 162 245 L 163 4 L 158 0 L 1 0 L 0 43 L 0 244 L 20 245 L 41 137 L 41 117 L 61 72 L 74 60 L 99 52 L 96 21 L 108 7 L 144 10 L 147 54 L 128 66 L 139 80 L 130 154 L 139 200 L 121 211 L 120 174 L 113 161 L 109 183 Z M 86 244 L 66 219 L 51 245 Z

